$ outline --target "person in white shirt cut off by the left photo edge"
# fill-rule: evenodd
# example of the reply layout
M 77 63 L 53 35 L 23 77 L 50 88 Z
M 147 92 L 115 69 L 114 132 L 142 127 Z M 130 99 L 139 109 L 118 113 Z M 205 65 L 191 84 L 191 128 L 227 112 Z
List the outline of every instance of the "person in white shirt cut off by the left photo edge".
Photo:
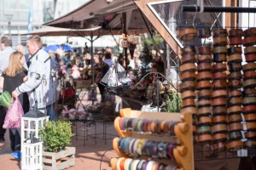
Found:
M 4 35 L 1 37 L 1 43 L 0 43 L 0 49 L 2 50 L 0 52 L 0 76 L 2 75 L 4 69 L 9 65 L 9 56 L 12 54 L 15 49 L 12 48 L 12 40 L 9 36 Z M 2 93 L 2 89 L 0 90 Z M 4 133 L 5 129 L 3 128 L 3 122 L 6 115 L 6 111 L 3 108 L 3 106 L 0 106 L 0 142 L 4 141 Z

